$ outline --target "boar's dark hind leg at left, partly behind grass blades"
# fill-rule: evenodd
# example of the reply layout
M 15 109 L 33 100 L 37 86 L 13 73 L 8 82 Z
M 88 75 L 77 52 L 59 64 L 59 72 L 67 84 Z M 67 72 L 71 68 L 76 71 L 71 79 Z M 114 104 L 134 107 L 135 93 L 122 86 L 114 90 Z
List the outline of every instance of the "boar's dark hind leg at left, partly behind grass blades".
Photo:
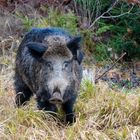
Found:
M 15 90 L 16 90 L 16 105 L 19 107 L 25 105 L 33 93 L 30 91 L 28 86 L 24 83 L 18 73 L 15 74 Z

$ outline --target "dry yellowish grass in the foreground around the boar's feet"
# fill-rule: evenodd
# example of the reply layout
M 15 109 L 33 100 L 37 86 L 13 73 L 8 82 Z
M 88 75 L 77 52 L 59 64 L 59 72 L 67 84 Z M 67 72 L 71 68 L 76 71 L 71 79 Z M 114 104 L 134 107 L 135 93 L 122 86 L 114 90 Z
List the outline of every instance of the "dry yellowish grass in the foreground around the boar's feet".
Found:
M 13 51 L 0 56 L 0 139 L 2 140 L 139 140 L 140 89 L 113 91 L 104 83 L 82 83 L 75 111 L 77 122 L 64 125 L 38 111 L 34 99 L 15 108 Z

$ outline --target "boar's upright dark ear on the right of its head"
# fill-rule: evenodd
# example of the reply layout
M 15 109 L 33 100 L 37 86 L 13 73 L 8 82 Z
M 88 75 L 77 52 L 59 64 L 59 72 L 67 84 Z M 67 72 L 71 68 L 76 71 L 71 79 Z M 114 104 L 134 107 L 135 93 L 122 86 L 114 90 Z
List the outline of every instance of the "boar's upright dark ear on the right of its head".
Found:
M 80 50 L 80 42 L 82 40 L 81 36 L 74 37 L 67 43 L 67 47 L 70 49 L 72 52 L 74 59 L 76 59 L 79 64 L 81 64 L 84 53 Z

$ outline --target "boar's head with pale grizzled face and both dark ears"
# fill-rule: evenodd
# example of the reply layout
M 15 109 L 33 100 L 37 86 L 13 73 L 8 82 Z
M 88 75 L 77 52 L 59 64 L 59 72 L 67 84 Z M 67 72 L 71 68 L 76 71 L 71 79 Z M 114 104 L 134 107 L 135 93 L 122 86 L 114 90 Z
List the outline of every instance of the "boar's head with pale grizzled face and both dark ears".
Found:
M 27 44 L 31 55 L 36 61 L 39 60 L 39 88 L 36 95 L 40 100 L 56 104 L 64 103 L 76 96 L 77 82 L 80 83 L 81 80 L 80 77 L 76 80 L 76 73 L 80 75 L 80 64 L 83 59 L 80 41 L 81 37 L 75 37 L 66 44 Z

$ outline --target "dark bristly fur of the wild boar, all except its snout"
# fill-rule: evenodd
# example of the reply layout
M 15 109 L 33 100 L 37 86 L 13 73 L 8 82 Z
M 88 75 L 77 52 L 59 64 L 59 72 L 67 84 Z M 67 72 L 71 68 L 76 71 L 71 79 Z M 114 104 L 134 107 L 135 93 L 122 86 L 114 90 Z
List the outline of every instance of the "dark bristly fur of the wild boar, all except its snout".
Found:
M 16 56 L 18 107 L 35 94 L 39 109 L 56 112 L 56 104 L 49 99 L 58 92 L 66 122 L 75 121 L 73 105 L 82 79 L 80 40 L 60 28 L 32 29 L 25 35 Z

